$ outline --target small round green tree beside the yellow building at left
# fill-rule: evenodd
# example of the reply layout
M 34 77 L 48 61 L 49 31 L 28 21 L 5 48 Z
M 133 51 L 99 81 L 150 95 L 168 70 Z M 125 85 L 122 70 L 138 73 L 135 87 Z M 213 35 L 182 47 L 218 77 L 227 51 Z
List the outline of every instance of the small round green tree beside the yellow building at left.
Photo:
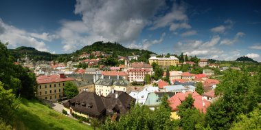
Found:
M 65 96 L 67 96 L 68 99 L 73 98 L 74 96 L 79 94 L 79 91 L 76 87 L 76 85 L 72 82 L 66 82 L 65 83 Z

